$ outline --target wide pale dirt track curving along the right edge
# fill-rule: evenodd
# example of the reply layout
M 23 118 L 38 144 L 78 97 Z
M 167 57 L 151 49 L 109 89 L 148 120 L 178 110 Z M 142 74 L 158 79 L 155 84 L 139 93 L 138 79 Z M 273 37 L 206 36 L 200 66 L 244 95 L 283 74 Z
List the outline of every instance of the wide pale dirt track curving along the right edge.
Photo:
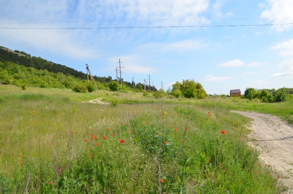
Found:
M 256 139 L 259 158 L 277 171 L 280 181 L 293 193 L 293 127 L 277 116 L 232 111 L 253 119 L 250 139 Z

